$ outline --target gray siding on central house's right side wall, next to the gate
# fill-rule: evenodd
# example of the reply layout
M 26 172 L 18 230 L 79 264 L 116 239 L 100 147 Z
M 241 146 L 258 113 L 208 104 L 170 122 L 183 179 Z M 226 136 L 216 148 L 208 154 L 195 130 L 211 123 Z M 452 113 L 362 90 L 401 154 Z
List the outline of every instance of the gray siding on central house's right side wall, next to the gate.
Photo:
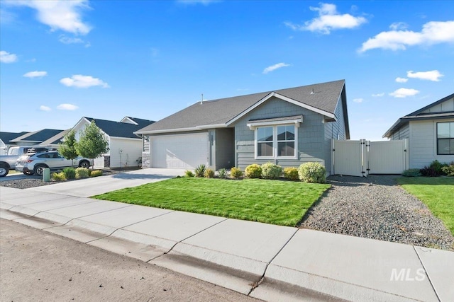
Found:
M 331 170 L 331 141 L 333 139 L 347 139 L 345 132 L 345 120 L 343 117 L 342 96 L 339 97 L 338 106 L 334 115 L 336 116 L 335 122 L 325 122 L 325 140 L 323 141 L 323 150 L 325 152 L 325 167 L 326 171 L 330 173 Z

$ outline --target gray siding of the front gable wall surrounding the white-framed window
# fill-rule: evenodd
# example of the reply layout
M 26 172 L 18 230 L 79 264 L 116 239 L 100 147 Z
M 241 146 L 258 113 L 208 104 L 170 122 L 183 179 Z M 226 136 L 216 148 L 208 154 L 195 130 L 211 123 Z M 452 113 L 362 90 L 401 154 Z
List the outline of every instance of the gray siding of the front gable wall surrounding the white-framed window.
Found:
M 303 122 L 298 128 L 297 159 L 258 160 L 254 158 L 255 132 L 247 126 L 248 120 L 267 119 L 303 115 Z M 301 163 L 316 161 L 325 165 L 326 148 L 324 144 L 323 116 L 319 113 L 293 105 L 279 98 L 272 98 L 245 115 L 235 124 L 236 165 L 246 168 L 251 163 L 272 161 L 283 167 L 297 167 Z M 331 148 L 331 146 L 330 146 Z M 330 155 L 331 157 L 331 155 Z M 328 169 L 328 168 L 327 168 Z

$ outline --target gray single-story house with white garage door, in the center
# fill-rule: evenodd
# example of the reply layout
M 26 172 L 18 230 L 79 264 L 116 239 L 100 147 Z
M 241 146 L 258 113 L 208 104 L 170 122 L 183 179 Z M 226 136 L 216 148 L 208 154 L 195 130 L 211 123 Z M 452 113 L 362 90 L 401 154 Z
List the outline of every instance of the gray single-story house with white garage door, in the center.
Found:
M 345 81 L 195 103 L 140 129 L 143 166 L 218 170 L 251 163 L 331 170 L 331 139 L 350 139 Z

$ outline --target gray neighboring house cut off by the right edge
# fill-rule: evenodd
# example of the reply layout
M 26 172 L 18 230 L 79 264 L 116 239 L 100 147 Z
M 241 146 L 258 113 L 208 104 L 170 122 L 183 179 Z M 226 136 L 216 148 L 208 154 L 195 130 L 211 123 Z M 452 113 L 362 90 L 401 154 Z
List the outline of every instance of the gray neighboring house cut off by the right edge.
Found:
M 383 137 L 409 139 L 409 168 L 454 161 L 454 93 L 399 118 Z

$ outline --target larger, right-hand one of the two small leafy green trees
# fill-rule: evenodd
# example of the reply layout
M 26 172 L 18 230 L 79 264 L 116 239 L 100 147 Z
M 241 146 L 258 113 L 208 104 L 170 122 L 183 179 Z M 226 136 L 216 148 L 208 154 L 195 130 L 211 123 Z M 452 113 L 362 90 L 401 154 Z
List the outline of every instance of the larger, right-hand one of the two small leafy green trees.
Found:
M 109 142 L 94 121 L 82 130 L 76 150 L 80 156 L 92 159 L 109 151 Z

